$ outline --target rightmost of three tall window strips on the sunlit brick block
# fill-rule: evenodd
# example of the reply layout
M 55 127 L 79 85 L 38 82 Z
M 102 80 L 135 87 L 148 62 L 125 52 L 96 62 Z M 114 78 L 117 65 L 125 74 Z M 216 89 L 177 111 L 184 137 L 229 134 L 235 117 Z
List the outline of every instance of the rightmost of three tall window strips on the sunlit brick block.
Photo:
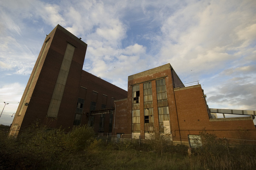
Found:
M 160 133 L 164 133 L 163 121 L 170 121 L 165 78 L 156 81 L 156 93 L 159 117 L 159 131 Z

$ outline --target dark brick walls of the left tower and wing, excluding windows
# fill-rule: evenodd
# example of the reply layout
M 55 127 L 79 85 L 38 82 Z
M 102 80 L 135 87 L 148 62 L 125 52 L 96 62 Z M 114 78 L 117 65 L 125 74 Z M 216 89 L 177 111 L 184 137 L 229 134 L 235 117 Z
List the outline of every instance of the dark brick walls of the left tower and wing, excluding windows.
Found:
M 27 128 L 35 121 L 46 124 L 49 128 L 59 128 L 61 126 L 66 130 L 72 129 L 77 100 L 79 97 L 85 99 L 82 124 L 86 124 L 88 122 L 86 113 L 89 113 L 90 110 L 90 98 L 93 90 L 98 92 L 96 109 L 101 109 L 102 94 L 108 96 L 107 107 L 113 107 L 114 100 L 127 97 L 127 91 L 82 70 L 87 45 L 79 38 L 75 37 L 61 26 L 57 26 L 45 40 L 47 39 L 49 40 L 47 49 L 44 53 L 37 75 L 35 76 L 28 99 L 25 101 L 29 104 L 28 106 L 24 106 L 22 115 L 17 116 L 18 114 L 16 114 L 13 120 L 13 124 L 19 124 L 19 130 Z M 46 114 L 68 43 L 75 46 L 75 50 L 58 116 L 57 118 L 47 118 Z M 23 99 L 25 98 L 43 48 L 44 46 L 41 49 L 38 60 L 32 71 L 21 100 L 22 102 L 20 102 L 17 109 L 17 113 L 19 113 L 21 106 L 24 104 Z M 80 86 L 87 88 L 87 90 L 81 89 Z M 114 99 L 112 99 L 112 97 Z M 105 120 L 107 122 L 105 124 L 108 124 L 109 126 L 109 117 L 106 117 Z M 98 127 L 99 124 L 97 125 L 97 128 Z

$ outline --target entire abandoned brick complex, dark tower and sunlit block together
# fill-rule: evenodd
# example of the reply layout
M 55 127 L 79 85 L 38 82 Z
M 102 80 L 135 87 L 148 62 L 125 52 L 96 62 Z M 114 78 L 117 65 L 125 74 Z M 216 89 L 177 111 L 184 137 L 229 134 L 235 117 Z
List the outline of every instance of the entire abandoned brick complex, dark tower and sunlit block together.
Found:
M 57 25 L 46 36 L 11 125 L 17 135 L 35 121 L 65 130 L 87 124 L 98 135 L 147 139 L 155 132 L 188 144 L 203 129 L 218 137 L 256 140 L 251 117 L 212 118 L 200 84 L 185 87 L 170 64 L 128 77 L 128 92 L 84 70 L 87 44 Z

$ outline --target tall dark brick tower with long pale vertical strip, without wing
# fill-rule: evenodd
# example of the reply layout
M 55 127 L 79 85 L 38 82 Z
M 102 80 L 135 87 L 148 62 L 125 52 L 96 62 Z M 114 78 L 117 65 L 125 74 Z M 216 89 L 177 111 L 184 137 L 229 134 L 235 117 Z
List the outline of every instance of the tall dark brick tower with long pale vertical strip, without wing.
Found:
M 17 135 L 35 120 L 73 124 L 87 44 L 57 25 L 46 36 L 11 125 Z M 64 124 L 65 124 L 64 123 Z

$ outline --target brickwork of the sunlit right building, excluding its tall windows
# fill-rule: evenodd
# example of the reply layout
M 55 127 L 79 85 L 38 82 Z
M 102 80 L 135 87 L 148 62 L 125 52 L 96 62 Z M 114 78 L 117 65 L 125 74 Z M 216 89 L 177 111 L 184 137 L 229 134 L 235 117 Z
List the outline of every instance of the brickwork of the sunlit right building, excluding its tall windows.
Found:
M 166 92 L 169 109 L 169 123 L 173 143 L 188 145 L 188 135 L 199 135 L 199 132 L 206 130 L 214 133 L 220 138 L 239 139 L 246 131 L 248 140 L 256 140 L 256 130 L 253 120 L 250 117 L 242 118 L 221 118 L 210 119 L 208 105 L 205 101 L 201 85 L 185 87 L 170 64 L 166 64 L 151 70 L 147 70 L 128 77 L 128 98 L 127 112 L 125 112 L 124 102 L 116 101 L 116 127 L 115 134 L 122 132 L 132 135 L 129 124 L 132 123 L 132 87 L 140 86 L 140 137 L 146 138 L 143 84 L 151 82 L 154 128 L 159 131 L 159 111 L 157 99 L 156 81 L 165 79 Z M 122 109 L 122 112 L 119 111 Z M 125 115 L 124 115 L 125 113 Z M 125 119 L 125 120 L 124 120 Z M 138 133 L 137 133 L 138 135 Z M 133 137 L 136 137 L 133 135 Z

